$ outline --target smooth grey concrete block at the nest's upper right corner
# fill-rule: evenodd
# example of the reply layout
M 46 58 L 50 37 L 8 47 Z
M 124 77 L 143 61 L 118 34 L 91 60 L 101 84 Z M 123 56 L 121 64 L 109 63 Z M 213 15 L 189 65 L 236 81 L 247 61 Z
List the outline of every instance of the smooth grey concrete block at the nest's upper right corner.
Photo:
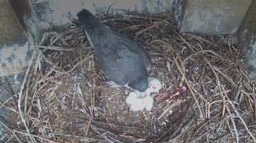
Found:
M 252 0 L 187 0 L 180 32 L 233 34 Z

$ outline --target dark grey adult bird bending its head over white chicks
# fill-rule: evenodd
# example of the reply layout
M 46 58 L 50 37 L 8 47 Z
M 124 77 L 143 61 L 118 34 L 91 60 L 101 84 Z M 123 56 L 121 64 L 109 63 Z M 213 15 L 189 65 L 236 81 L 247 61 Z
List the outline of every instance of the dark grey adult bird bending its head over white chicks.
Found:
M 109 80 L 143 92 L 148 87 L 147 67 L 150 58 L 134 40 L 105 26 L 90 11 L 81 10 L 77 17 L 83 25 L 102 71 Z

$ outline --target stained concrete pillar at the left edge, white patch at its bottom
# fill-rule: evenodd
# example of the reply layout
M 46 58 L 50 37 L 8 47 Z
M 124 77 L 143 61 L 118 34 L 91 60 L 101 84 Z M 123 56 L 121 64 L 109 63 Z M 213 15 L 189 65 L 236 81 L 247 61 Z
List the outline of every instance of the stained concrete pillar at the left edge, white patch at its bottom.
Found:
M 0 0 L 0 77 L 23 72 L 29 57 L 28 34 L 8 0 Z

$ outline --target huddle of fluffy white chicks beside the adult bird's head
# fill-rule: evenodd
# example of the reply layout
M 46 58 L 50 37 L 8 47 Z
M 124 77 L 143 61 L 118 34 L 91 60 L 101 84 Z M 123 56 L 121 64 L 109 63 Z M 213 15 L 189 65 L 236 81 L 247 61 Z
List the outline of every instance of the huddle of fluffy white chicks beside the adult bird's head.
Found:
M 125 102 L 130 106 L 133 111 L 146 109 L 152 110 L 154 99 L 150 96 L 151 93 L 157 93 L 162 87 L 159 80 L 154 77 L 148 77 L 148 88 L 144 92 L 133 91 L 126 98 Z

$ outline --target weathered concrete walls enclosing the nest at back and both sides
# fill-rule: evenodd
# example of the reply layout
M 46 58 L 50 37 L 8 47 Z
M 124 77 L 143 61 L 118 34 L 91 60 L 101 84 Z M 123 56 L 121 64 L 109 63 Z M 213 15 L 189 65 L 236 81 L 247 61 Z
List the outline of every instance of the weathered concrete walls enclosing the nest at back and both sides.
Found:
M 8 3 L 10 1 L 10 3 Z M 22 66 L 15 63 L 26 63 L 29 57 L 29 42 L 40 40 L 41 31 L 52 27 L 67 24 L 72 19 L 77 19 L 77 12 L 86 8 L 96 13 L 124 14 L 127 11 L 136 13 L 164 13 L 172 11 L 177 27 L 181 32 L 199 34 L 234 34 L 239 28 L 252 0 L 0 0 L 0 76 L 3 71 L 15 71 L 17 73 Z M 255 5 L 255 1 L 253 1 Z M 12 4 L 12 7 L 10 6 Z M 29 4 L 29 6 L 28 6 Z M 252 7 L 252 6 L 251 6 Z M 16 16 L 14 15 L 15 11 Z M 255 11 L 251 8 L 250 11 Z M 255 13 L 252 15 L 256 15 Z M 248 16 L 246 16 L 248 17 Z M 252 16 L 250 16 L 252 17 Z M 18 19 L 17 19 L 18 18 Z M 255 17 L 254 17 L 255 18 Z M 249 18 L 252 19 L 252 18 Z M 237 36 L 240 43 L 250 44 L 251 48 L 245 48 L 244 61 L 250 67 L 256 65 L 252 48 L 255 47 L 253 37 L 250 34 L 255 27 L 242 24 Z M 242 22 L 244 23 L 244 22 Z M 245 22 L 246 23 L 246 22 Z M 7 36 L 8 35 L 8 36 Z M 30 41 L 29 41 L 30 40 Z M 246 41 L 246 42 L 244 42 Z M 20 44 L 22 43 L 22 44 Z M 23 51 L 23 56 L 15 56 L 17 51 Z M 249 52 L 248 52 L 249 51 Z M 256 50 L 255 50 L 256 51 Z M 247 54 L 246 54 L 247 53 Z M 255 52 L 256 53 L 256 52 Z M 13 55 L 14 54 L 14 55 Z M 4 55 L 4 56 L 2 56 Z M 19 57 L 19 58 L 17 58 Z M 246 58 L 249 57 L 249 58 Z M 10 60 L 12 59 L 12 60 Z M 23 64 L 22 64 L 23 65 Z M 12 67 L 16 70 L 10 70 Z M 7 69 L 7 70 L 3 70 Z M 252 68 L 254 69 L 254 68 Z M 256 69 L 256 66 L 255 66 Z M 9 74 L 9 73 L 8 73 Z

